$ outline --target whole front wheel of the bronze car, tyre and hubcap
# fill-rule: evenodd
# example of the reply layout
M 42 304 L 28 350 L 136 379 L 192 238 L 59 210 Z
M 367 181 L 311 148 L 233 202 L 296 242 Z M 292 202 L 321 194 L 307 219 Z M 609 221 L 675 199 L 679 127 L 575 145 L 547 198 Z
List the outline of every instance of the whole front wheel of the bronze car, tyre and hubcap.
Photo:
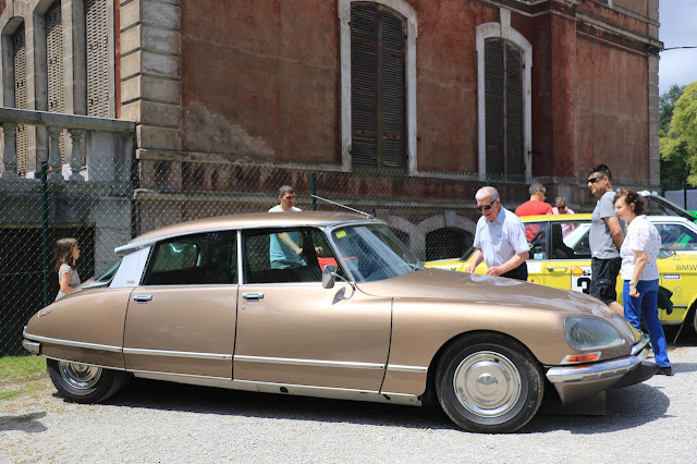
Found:
M 436 370 L 436 392 L 445 414 L 465 430 L 505 434 L 537 413 L 545 393 L 543 374 L 521 343 L 480 333 L 445 350 Z

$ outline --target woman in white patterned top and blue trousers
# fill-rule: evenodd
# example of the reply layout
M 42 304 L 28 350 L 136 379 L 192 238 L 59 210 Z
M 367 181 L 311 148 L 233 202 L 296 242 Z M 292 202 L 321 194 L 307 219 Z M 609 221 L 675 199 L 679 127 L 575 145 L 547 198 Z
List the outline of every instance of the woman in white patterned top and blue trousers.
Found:
M 656 259 L 661 248 L 661 236 L 644 212 L 644 198 L 634 191 L 621 190 L 614 197 L 614 210 L 627 222 L 626 235 L 622 242 L 622 280 L 624 289 L 624 317 L 637 330 L 641 320 L 649 331 L 658 374 L 672 376 L 673 368 L 668 359 L 665 334 L 658 319 L 658 265 Z

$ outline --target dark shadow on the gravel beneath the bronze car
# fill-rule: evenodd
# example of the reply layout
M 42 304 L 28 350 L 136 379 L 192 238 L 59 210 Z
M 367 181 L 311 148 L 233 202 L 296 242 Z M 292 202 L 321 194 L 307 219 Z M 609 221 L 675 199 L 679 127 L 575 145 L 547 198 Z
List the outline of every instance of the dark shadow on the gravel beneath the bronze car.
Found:
M 694 371 L 697 370 L 697 364 L 675 364 L 674 370 L 676 375 Z M 133 379 L 124 391 L 107 404 L 258 418 L 458 429 L 442 412 L 423 407 L 254 393 L 146 379 Z M 664 416 L 669 405 L 670 399 L 663 393 L 662 387 L 639 383 L 609 390 L 604 415 L 549 414 L 543 404 L 540 413 L 518 432 L 568 430 L 586 435 L 625 430 Z

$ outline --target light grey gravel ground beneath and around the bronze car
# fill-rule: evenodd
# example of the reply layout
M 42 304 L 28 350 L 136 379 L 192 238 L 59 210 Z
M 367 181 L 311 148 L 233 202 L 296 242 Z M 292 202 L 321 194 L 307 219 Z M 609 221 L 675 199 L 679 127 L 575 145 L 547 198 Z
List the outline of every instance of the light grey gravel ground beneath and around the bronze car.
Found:
M 106 404 L 63 401 L 48 377 L 0 380 L 0 463 L 697 462 L 697 346 L 674 377 L 608 393 L 604 416 L 538 414 L 512 435 L 425 410 L 136 380 Z

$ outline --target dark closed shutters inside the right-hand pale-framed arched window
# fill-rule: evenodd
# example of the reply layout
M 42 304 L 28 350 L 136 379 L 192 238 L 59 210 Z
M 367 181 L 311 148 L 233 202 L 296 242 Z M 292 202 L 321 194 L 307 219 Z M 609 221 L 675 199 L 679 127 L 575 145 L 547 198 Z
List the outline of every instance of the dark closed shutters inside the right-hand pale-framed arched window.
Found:
M 521 51 L 506 40 L 485 42 L 487 172 L 525 173 L 523 69 Z

